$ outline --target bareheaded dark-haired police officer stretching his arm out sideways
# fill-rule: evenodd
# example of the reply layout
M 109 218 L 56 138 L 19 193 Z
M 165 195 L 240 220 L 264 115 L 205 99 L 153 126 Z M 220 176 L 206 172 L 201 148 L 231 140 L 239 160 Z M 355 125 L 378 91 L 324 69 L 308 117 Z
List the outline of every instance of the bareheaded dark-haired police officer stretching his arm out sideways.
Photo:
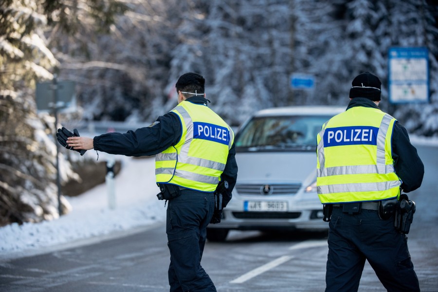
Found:
M 155 174 L 161 191 L 157 196 L 168 200 L 171 292 L 216 291 L 201 266 L 206 227 L 215 213 L 218 184 L 228 183 L 222 193 L 221 207 L 225 207 L 237 179 L 234 132 L 207 107 L 204 86 L 200 74 L 185 73 L 176 83 L 178 106 L 149 127 L 67 140 L 72 150 L 94 148 L 128 156 L 156 155 Z

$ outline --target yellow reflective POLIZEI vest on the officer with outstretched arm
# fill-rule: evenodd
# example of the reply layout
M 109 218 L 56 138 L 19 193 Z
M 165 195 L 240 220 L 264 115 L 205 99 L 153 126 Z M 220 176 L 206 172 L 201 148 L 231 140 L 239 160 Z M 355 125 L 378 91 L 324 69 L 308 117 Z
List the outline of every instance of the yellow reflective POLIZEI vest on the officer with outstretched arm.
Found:
M 183 101 L 172 111 L 180 117 L 183 133 L 177 145 L 155 156 L 157 183 L 213 192 L 234 142 L 233 130 L 203 104 Z

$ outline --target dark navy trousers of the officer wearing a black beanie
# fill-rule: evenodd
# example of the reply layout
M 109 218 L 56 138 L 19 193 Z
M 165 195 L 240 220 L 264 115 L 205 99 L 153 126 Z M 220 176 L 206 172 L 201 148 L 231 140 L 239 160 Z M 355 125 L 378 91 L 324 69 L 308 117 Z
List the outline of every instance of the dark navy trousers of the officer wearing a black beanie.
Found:
M 334 207 L 329 222 L 326 292 L 358 291 L 365 259 L 389 292 L 420 291 L 407 237 L 375 210 L 348 215 Z

